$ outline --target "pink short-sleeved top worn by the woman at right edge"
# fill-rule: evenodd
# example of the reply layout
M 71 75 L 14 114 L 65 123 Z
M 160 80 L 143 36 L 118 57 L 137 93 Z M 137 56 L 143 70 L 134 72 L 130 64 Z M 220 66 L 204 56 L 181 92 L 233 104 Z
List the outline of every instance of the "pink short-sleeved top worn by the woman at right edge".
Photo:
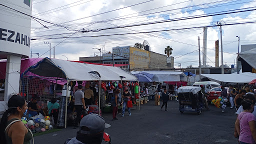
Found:
M 239 141 L 246 143 L 255 143 L 249 126 L 249 121 L 256 121 L 255 116 L 250 112 L 241 112 L 238 115 L 238 120 L 240 123 Z

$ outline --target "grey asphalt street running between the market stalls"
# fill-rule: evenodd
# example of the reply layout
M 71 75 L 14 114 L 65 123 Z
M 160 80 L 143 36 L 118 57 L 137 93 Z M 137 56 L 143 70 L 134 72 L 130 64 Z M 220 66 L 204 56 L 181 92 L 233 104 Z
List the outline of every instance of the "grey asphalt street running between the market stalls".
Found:
M 111 135 L 112 143 L 237 143 L 233 137 L 234 109 L 228 107 L 222 113 L 220 108 L 210 105 L 209 111 L 204 108 L 197 115 L 181 114 L 177 101 L 168 102 L 168 111 L 161 111 L 160 106 L 153 104 L 154 101 L 149 101 L 141 105 L 140 110 L 132 109 L 131 116 L 126 112 L 115 121 L 111 121 L 111 113 L 103 113 L 106 122 L 111 124 L 105 131 Z M 35 136 L 34 140 L 36 144 L 63 143 L 68 137 L 74 137 L 77 130 L 68 127 Z

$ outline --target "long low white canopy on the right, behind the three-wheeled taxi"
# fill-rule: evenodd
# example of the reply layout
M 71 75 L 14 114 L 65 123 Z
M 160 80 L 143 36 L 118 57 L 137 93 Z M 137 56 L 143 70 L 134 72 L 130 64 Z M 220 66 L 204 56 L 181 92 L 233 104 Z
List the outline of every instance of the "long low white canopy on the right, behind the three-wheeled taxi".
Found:
M 218 83 L 231 82 L 231 83 L 249 83 L 252 79 L 256 78 L 256 73 L 242 72 L 232 74 L 201 74 L 203 77 L 209 78 L 211 81 Z

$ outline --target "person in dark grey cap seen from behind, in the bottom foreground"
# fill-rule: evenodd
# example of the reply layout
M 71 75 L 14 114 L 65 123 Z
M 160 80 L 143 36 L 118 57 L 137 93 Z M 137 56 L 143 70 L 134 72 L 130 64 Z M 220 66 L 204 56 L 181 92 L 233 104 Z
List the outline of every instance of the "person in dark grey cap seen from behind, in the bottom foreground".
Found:
M 104 129 L 110 127 L 103 117 L 92 113 L 82 117 L 79 131 L 67 144 L 100 144 L 103 140 Z

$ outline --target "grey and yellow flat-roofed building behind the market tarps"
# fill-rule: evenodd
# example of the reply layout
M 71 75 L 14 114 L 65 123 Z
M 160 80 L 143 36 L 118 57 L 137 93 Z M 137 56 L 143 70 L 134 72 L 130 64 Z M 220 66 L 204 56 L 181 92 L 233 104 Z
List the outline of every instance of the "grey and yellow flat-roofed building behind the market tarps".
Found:
M 99 56 L 96 58 L 79 57 L 80 61 L 99 62 Z M 121 68 L 128 70 L 143 70 L 150 68 L 173 68 L 174 58 L 164 54 L 147 51 L 131 46 L 113 47 L 112 53 L 103 53 L 101 63 L 128 64 Z

